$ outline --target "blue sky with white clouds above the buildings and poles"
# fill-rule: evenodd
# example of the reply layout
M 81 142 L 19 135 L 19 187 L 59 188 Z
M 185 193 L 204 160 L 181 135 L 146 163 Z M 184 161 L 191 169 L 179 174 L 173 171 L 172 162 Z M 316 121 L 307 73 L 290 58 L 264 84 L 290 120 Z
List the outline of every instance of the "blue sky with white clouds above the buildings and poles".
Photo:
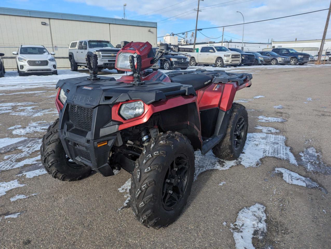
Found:
M 195 28 L 198 0 L 2 0 L 1 7 L 39 11 L 123 18 L 158 22 L 158 36 L 167 33 L 185 32 Z M 329 8 L 330 0 L 204 0 L 200 2 L 198 28 L 231 25 L 263 19 L 295 15 Z M 258 22 L 245 25 L 246 42 L 268 42 L 321 39 L 327 11 Z M 326 38 L 331 38 L 331 26 Z M 190 32 L 188 37 L 190 37 Z M 225 39 L 241 41 L 242 25 L 226 27 Z M 181 34 L 180 34 L 181 35 Z M 205 35 L 205 36 L 204 36 Z M 197 41 L 219 41 L 222 28 L 205 29 L 198 32 Z M 207 38 L 216 38 L 210 39 Z M 158 38 L 160 40 L 162 38 Z

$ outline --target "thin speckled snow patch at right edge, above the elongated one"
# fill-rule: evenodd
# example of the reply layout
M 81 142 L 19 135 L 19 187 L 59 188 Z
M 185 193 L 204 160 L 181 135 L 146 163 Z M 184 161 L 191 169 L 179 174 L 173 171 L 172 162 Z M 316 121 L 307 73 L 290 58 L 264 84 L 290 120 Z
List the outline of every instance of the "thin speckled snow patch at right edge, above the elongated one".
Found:
M 331 167 L 326 166 L 322 161 L 322 155 L 314 147 L 309 147 L 299 153 L 301 162 L 308 171 L 315 171 L 322 174 L 330 175 Z

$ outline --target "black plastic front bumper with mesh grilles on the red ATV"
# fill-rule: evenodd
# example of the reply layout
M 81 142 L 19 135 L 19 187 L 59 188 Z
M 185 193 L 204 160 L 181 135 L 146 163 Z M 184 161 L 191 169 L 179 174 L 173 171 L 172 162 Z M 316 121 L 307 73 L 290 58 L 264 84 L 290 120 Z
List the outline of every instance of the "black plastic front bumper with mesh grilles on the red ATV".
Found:
M 88 165 L 103 176 L 114 175 L 108 158 L 118 137 L 119 124 L 110 121 L 110 105 L 88 109 L 73 104 L 64 105 L 60 112 L 60 140 L 67 155 L 77 164 Z M 76 115 L 80 119 L 72 114 L 73 111 L 81 112 Z M 98 147 L 98 143 L 104 141 L 107 145 Z

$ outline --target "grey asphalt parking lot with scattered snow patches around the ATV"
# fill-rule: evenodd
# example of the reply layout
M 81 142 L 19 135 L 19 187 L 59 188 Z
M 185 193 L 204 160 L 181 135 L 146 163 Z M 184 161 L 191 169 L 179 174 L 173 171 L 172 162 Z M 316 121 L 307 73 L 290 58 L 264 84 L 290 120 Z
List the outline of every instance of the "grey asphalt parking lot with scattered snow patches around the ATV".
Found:
M 42 169 L 41 137 L 57 118 L 55 84 L 82 73 L 7 72 L 0 79 L 0 248 L 329 248 L 331 65 L 224 69 L 253 74 L 252 87 L 235 97 L 249 114 L 244 153 L 229 162 L 197 151 L 187 206 L 159 230 L 136 221 L 127 172 L 61 182 Z

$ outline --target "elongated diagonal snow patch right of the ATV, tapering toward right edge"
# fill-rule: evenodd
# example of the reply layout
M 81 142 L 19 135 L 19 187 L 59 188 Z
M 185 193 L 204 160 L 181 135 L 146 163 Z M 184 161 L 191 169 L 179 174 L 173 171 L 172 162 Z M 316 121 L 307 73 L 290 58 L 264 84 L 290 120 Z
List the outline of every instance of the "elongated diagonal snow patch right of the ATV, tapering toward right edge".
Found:
M 313 182 L 310 178 L 306 178 L 303 176 L 300 176 L 298 173 L 295 173 L 293 171 L 290 171 L 288 169 L 284 168 L 275 168 L 275 173 L 282 173 L 283 174 L 283 180 L 289 184 L 294 184 L 298 186 L 308 187 L 308 188 L 319 188 L 324 193 L 327 193 L 326 190 L 322 187 L 319 187 L 319 185 L 315 182 Z

